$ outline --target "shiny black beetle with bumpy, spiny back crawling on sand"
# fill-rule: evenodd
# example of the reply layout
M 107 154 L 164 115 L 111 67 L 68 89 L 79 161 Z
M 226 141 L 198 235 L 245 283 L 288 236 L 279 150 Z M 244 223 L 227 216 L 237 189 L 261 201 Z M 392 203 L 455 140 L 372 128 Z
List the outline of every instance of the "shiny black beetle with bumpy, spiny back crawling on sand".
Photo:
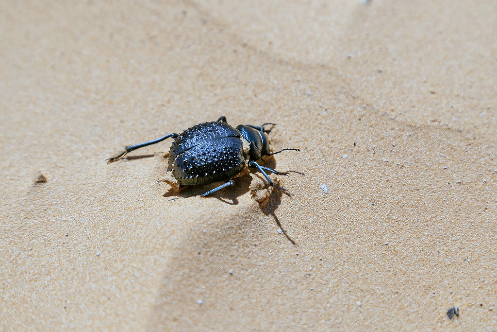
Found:
M 266 136 L 266 132 L 270 130 L 264 129 L 264 126 L 268 124 L 275 125 L 267 122 L 260 126 L 239 124 L 233 128 L 226 122 L 226 117 L 221 116 L 217 121 L 196 124 L 179 135 L 167 134 L 149 142 L 126 146 L 124 152 L 107 161 L 118 160 L 128 152 L 172 137 L 175 140 L 169 150 L 167 172 L 171 171 L 176 183 L 167 180 L 166 182 L 175 187 L 228 181 L 202 194 L 201 196 L 204 197 L 225 187 L 233 186 L 235 184 L 233 178 L 245 174 L 244 171 L 248 167 L 254 167 L 264 175 L 271 187 L 284 191 L 284 188 L 276 186 L 271 181 L 264 170 L 277 175 L 288 175 L 288 173 L 260 166 L 256 160 L 285 150 L 300 150 L 287 148 L 270 152 Z

